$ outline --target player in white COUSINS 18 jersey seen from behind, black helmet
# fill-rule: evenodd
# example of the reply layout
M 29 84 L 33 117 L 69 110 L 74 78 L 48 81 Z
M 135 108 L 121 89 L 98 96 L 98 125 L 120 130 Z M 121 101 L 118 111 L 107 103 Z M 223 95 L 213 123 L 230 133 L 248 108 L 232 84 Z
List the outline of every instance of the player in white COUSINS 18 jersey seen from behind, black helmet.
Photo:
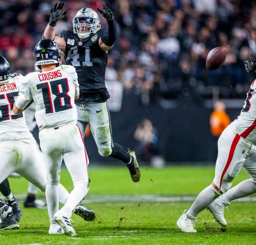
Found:
M 72 210 L 87 194 L 88 157 L 77 126 L 74 103 L 79 97 L 75 68 L 61 65 L 60 47 L 51 39 L 40 41 L 34 49 L 36 65 L 42 72 L 27 74 L 20 83 L 20 96 L 14 104 L 19 114 L 33 99 L 39 127 L 40 147 L 47 172 L 46 201 L 51 222 L 57 222 L 68 235 L 76 235 L 70 223 Z M 71 174 L 74 189 L 58 210 L 58 182 L 62 159 Z

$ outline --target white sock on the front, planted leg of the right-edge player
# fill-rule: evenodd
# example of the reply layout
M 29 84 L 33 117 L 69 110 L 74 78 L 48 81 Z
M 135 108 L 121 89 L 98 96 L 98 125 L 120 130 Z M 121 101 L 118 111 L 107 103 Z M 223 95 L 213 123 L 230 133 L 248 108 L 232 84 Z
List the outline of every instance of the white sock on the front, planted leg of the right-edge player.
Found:
M 196 200 L 187 211 L 188 216 L 195 218 L 198 213 L 208 207 L 219 195 L 221 194 L 213 188 L 212 184 L 207 186 L 207 188 L 199 193 Z

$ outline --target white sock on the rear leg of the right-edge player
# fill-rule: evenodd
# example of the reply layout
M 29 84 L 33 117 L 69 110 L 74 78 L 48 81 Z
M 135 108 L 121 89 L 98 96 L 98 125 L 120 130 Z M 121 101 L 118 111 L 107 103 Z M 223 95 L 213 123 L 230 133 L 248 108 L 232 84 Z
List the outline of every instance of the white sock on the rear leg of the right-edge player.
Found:
M 250 178 L 248 180 L 244 180 L 238 185 L 234 186 L 226 193 L 219 197 L 224 203 L 229 203 L 238 198 L 247 197 L 256 192 L 256 185 L 253 180 Z

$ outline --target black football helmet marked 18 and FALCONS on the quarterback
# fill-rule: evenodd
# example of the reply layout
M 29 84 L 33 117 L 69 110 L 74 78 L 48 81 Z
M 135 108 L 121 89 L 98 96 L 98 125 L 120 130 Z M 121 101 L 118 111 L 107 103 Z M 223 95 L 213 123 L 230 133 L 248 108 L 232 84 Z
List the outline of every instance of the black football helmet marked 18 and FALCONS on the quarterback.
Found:
M 61 64 L 61 50 L 59 45 L 51 39 L 43 39 L 34 48 L 35 65 Z

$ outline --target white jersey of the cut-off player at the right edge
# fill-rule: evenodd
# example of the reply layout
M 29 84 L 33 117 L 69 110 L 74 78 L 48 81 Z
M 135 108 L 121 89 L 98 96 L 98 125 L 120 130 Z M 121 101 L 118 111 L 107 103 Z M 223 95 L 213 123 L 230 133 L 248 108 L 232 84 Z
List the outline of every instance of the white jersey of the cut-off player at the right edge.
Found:
M 243 109 L 237 119 L 231 122 L 232 129 L 256 144 L 256 80 L 250 86 Z

